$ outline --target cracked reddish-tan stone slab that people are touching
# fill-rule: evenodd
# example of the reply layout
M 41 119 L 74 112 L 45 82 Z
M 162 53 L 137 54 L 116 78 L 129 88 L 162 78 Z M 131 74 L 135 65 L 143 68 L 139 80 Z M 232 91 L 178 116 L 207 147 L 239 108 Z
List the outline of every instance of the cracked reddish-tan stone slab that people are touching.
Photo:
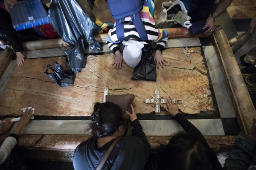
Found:
M 187 58 L 180 54 L 183 48 L 163 51 L 168 61 L 164 69 L 157 70 L 157 82 L 131 80 L 133 68 L 126 64 L 121 70 L 113 68 L 113 54 L 88 56 L 87 65 L 76 74 L 73 86 L 59 87 L 44 75 L 45 66 L 60 63 L 68 66 L 65 57 L 26 59 L 25 65 L 16 67 L 5 91 L 0 97 L 1 116 L 20 115 L 21 108 L 35 107 L 40 116 L 90 116 L 93 104 L 103 102 L 105 88 L 109 94 L 134 94 L 137 113 L 151 113 L 154 108 L 144 101 L 158 90 L 166 98 L 183 99 L 179 108 L 183 113 L 198 114 L 214 111 L 207 70 L 201 54 Z M 191 50 L 201 50 L 199 47 Z M 161 111 L 160 115 L 166 115 Z

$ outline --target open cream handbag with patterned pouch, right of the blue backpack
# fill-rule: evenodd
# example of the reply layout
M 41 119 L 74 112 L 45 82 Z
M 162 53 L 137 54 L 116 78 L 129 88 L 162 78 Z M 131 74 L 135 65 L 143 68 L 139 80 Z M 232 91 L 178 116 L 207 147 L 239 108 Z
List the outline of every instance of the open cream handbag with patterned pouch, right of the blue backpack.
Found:
M 188 11 L 186 10 L 186 7 L 183 2 L 180 0 L 175 0 L 172 2 L 171 0 L 169 2 L 163 2 L 161 7 L 161 13 L 160 17 L 157 21 L 157 28 L 173 28 L 173 27 L 179 27 L 179 24 L 182 26 L 187 27 L 187 25 L 190 24 L 190 22 L 187 22 L 190 20 L 190 17 L 187 17 L 187 21 L 184 23 L 177 22 L 177 14 L 178 12 L 182 12 L 183 15 L 187 15 Z M 179 15 L 181 14 L 179 12 Z M 191 25 L 191 24 L 190 24 Z

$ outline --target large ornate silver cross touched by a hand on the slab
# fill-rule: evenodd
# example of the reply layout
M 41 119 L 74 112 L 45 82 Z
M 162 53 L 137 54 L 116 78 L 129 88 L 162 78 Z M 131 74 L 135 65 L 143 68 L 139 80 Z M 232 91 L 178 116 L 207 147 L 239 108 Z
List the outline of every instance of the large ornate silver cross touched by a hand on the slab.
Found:
M 155 91 L 155 95 L 151 96 L 151 99 L 146 99 L 145 103 L 151 103 L 151 106 L 155 106 L 155 113 L 160 113 L 160 106 L 163 107 L 163 104 L 166 103 L 165 99 L 162 99 L 163 96 L 159 96 L 159 91 Z M 173 99 L 175 102 L 175 99 Z M 178 104 L 183 104 L 182 99 L 177 99 Z

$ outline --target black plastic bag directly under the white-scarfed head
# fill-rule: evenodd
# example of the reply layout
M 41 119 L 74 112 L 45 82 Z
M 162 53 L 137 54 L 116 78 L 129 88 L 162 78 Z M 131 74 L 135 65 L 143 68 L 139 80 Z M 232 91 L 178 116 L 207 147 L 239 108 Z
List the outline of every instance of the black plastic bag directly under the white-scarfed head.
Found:
M 156 63 L 152 55 L 153 48 L 149 45 L 145 45 L 142 51 L 142 56 L 139 64 L 134 68 L 131 79 L 133 80 L 157 80 L 157 68 Z

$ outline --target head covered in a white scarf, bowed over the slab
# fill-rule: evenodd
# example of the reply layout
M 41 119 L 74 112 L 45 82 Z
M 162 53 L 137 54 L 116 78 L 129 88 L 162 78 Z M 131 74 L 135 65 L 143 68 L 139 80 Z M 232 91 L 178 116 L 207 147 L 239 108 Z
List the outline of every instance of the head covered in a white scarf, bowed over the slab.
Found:
M 125 63 L 132 68 L 136 67 L 141 59 L 142 48 L 144 47 L 143 42 L 136 40 L 128 40 L 123 41 L 122 43 L 123 45 L 125 45 L 123 51 Z

